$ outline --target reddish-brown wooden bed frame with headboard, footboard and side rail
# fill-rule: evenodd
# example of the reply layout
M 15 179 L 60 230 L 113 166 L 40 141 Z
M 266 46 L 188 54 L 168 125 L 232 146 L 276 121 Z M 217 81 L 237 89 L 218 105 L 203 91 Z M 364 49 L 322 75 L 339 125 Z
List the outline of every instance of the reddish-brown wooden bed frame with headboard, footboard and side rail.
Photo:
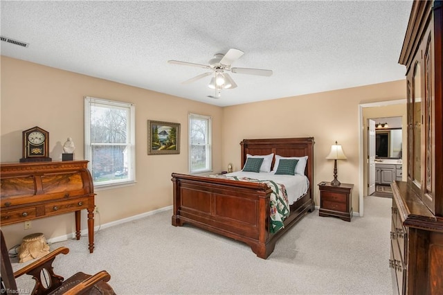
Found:
M 309 188 L 290 206 L 291 212 L 284 220 L 284 228 L 276 233 L 269 231 L 269 197 L 272 190 L 266 184 L 178 173 L 172 173 L 172 225 L 189 223 L 245 242 L 258 257 L 266 259 L 278 238 L 307 211 L 314 210 L 314 138 L 244 139 L 240 145 L 242 167 L 246 154 L 308 156 L 305 175 L 309 179 Z

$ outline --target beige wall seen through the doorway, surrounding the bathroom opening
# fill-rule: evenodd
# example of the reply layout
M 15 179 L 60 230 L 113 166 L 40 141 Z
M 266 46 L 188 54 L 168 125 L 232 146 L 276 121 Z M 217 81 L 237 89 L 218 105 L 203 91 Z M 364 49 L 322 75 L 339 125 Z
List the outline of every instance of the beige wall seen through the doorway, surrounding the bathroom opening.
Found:
M 406 92 L 406 91 L 405 91 Z M 401 150 L 406 151 L 408 129 L 406 118 L 406 100 L 398 105 L 385 105 L 379 107 L 364 107 L 363 114 L 363 159 L 368 159 L 368 119 L 385 118 L 385 117 L 401 117 Z M 377 122 L 376 122 L 377 123 Z M 406 180 L 407 159 L 406 152 L 402 152 L 402 170 L 403 180 Z M 368 161 L 363 161 L 363 194 L 368 195 Z

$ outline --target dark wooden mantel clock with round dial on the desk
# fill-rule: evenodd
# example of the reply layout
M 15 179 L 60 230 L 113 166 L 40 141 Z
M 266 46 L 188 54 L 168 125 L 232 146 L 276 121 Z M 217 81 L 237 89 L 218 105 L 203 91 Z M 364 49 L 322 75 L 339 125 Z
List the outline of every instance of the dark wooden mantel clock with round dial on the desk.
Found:
M 23 157 L 20 162 L 52 161 L 49 157 L 49 132 L 33 127 L 23 132 Z

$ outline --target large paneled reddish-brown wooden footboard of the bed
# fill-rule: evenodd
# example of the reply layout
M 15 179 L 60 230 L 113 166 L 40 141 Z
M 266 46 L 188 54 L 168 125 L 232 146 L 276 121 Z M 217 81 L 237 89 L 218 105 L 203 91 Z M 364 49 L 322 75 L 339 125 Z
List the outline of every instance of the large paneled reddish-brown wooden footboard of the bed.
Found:
M 285 230 L 269 233 L 272 190 L 266 184 L 177 173 L 172 174 L 172 183 L 174 226 L 189 223 L 245 242 L 264 259 L 272 253 L 276 238 Z M 298 220 L 290 217 L 287 227 Z

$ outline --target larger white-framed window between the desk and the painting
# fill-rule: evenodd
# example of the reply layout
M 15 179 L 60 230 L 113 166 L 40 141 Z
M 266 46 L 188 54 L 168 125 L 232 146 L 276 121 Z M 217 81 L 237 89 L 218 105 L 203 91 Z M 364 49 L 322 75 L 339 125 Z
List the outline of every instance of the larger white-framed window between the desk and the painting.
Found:
M 135 181 L 135 106 L 84 98 L 84 157 L 94 186 Z

